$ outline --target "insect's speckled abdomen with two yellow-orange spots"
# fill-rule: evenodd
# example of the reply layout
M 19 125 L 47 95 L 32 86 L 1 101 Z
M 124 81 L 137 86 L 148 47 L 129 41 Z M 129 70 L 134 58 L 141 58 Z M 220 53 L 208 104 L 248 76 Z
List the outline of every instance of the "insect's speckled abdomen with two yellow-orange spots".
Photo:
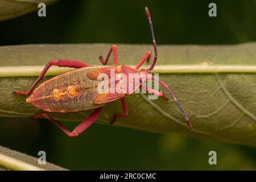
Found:
M 64 73 L 43 82 L 27 102 L 48 112 L 70 113 L 100 107 L 93 98 L 98 94 L 98 81 L 86 76 L 96 67 Z

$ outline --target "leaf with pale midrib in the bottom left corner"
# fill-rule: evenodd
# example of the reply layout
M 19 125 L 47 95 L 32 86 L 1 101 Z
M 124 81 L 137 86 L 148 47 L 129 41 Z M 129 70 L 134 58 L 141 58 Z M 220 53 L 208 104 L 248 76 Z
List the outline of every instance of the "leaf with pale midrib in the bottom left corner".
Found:
M 51 163 L 38 164 L 38 158 L 0 146 L 0 171 L 63 171 L 67 170 Z

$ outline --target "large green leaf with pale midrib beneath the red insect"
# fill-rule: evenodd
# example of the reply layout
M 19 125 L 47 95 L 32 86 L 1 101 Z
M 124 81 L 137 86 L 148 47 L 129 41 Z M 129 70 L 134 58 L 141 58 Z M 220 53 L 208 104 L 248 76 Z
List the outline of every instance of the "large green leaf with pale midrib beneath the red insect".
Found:
M 0 115 L 32 117 L 42 110 L 25 102 L 26 91 L 51 59 L 76 59 L 101 65 L 110 44 L 44 44 L 0 47 Z M 152 46 L 118 45 L 118 64 L 136 65 Z M 190 131 L 179 108 L 170 99 L 148 100 L 147 94 L 127 96 L 127 118 L 114 126 L 158 133 L 184 133 L 256 146 L 256 43 L 235 46 L 158 46 L 154 69 L 169 85 L 191 119 Z M 150 62 L 152 59 L 150 60 Z M 109 61 L 112 64 L 112 59 Z M 147 68 L 150 63 L 144 63 Z M 69 71 L 52 67 L 44 78 Z M 166 90 L 160 87 L 166 94 Z M 169 96 L 170 97 L 170 96 Z M 59 121 L 82 121 L 91 111 L 51 113 Z M 104 107 L 98 122 L 108 124 L 121 113 L 119 101 Z M 53 127 L 53 126 L 52 126 Z M 61 131 L 60 131 L 61 132 Z

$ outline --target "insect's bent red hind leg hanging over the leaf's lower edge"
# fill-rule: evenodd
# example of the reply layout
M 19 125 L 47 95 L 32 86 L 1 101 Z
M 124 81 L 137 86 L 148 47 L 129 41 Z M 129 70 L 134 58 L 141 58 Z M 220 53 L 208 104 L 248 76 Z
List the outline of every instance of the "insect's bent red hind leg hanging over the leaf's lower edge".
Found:
M 86 118 L 84 121 L 82 121 L 79 124 L 79 126 L 77 126 L 75 128 L 75 130 L 73 130 L 72 132 L 65 129 L 65 127 L 63 125 L 61 125 L 61 123 L 55 121 L 54 119 L 49 117 L 49 115 L 47 115 L 46 113 L 40 113 L 40 114 L 36 115 L 33 119 L 36 119 L 39 117 L 44 117 L 44 118 L 48 119 L 49 121 L 51 121 L 54 125 L 59 127 L 59 129 L 61 129 L 65 134 L 67 134 L 68 137 L 73 138 L 73 137 L 77 137 L 78 135 L 80 135 L 82 132 L 84 132 L 86 129 L 88 129 L 88 127 L 90 127 L 94 123 L 94 121 L 96 121 L 98 116 L 101 114 L 102 108 L 103 107 L 98 107 L 97 109 L 95 109 L 93 111 L 93 113 L 90 114 L 88 116 L 88 118 Z

